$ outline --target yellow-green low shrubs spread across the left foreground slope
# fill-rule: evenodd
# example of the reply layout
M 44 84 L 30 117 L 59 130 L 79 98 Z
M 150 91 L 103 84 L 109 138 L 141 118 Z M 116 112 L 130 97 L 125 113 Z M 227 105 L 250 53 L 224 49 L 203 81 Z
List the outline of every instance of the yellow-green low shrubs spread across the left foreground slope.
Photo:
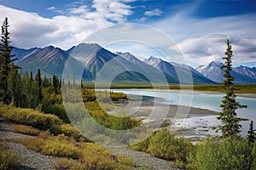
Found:
M 55 164 L 57 169 L 107 170 L 135 167 L 131 159 L 113 156 L 111 151 L 100 144 L 85 143 L 73 125 L 63 123 L 57 116 L 2 104 L 0 104 L 0 116 L 25 124 L 16 125 L 15 132 L 38 135 L 38 138 L 11 139 L 13 142 L 25 144 L 27 148 L 44 155 L 62 157 Z M 15 160 L 18 163 L 18 157 L 11 150 L 2 151 L 2 148 L 0 150 L 0 159 L 3 159 L 3 162 L 0 160 L 3 168 L 0 169 L 15 165 Z

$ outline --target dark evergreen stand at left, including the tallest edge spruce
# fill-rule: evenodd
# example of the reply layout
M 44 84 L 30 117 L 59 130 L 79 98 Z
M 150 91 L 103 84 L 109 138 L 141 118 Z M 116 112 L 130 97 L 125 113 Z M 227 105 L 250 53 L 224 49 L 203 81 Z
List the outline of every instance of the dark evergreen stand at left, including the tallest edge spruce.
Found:
M 9 40 L 9 22 L 5 18 L 2 26 L 0 43 L 0 102 L 23 108 L 36 108 L 44 99 L 60 94 L 61 80 L 53 75 L 52 78 L 42 79 L 41 71 L 33 76 L 32 71 L 20 75 L 20 67 L 15 65 L 15 54 L 11 54 L 12 46 Z

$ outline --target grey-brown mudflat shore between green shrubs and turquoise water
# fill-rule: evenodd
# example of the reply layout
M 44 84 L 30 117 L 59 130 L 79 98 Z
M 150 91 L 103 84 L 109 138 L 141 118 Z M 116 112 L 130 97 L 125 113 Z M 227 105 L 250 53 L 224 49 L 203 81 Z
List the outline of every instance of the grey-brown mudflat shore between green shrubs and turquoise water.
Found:
M 131 118 L 142 121 L 148 127 L 155 129 L 170 127 L 177 137 L 191 141 L 205 139 L 207 134 L 212 132 L 211 128 L 214 126 L 211 122 L 214 122 L 215 116 L 218 115 L 217 111 L 183 105 L 166 105 L 154 101 L 130 101 L 129 104 L 119 104 L 108 111 L 108 114 L 115 115 L 119 111 L 127 112 Z M 193 120 L 195 126 L 186 122 L 188 120 Z

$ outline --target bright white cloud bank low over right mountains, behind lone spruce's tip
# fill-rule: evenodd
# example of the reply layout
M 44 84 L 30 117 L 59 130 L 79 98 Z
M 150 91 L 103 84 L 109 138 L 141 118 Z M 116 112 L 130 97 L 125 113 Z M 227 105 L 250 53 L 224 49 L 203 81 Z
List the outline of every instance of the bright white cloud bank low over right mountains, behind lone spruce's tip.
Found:
M 222 61 L 226 50 L 226 40 L 230 39 L 233 49 L 233 63 L 256 61 L 256 37 L 233 38 L 225 35 L 207 35 L 188 38 L 177 43 L 184 58 L 192 65 L 206 65 L 212 61 Z M 176 49 L 173 46 L 171 49 Z

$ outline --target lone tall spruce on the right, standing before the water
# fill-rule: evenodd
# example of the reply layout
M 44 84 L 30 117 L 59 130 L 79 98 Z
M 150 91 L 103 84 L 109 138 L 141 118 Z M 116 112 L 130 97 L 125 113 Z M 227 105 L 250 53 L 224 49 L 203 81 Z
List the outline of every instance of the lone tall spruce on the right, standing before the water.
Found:
M 245 108 L 246 105 L 241 105 L 236 101 L 236 94 L 234 93 L 234 79 L 235 77 L 230 75 L 232 71 L 232 57 L 233 52 L 230 45 L 230 40 L 227 40 L 227 49 L 225 57 L 223 58 L 224 65 L 224 82 L 223 88 L 225 89 L 225 95 L 220 107 L 222 111 L 218 113 L 218 120 L 222 122 L 218 130 L 221 130 L 223 137 L 240 137 L 241 133 L 241 121 L 247 121 L 247 119 L 236 116 L 236 110 L 239 108 Z

